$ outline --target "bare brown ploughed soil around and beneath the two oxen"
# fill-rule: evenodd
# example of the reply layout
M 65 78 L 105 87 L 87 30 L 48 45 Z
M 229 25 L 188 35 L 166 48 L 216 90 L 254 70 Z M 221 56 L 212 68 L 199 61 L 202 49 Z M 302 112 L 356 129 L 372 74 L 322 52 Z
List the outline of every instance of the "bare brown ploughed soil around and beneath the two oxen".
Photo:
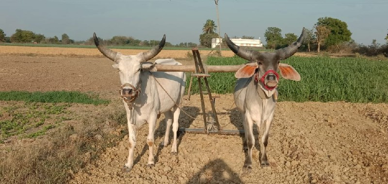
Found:
M 74 116 L 80 117 L 97 116 L 101 111 L 112 110 L 112 107 L 122 107 L 124 110 L 117 95 L 119 77 L 111 66 L 112 61 L 100 57 L 64 56 L 75 52 L 80 53 L 80 56 L 100 55 L 97 49 L 26 49 L 30 49 L 26 53 L 39 54 L 52 54 L 49 52 L 55 51 L 45 53 L 44 50 L 57 49 L 55 54 L 62 54 L 58 57 L 8 55 L 13 51 L 5 52 L 3 49 L 1 46 L 1 91 L 97 92 L 102 98 L 111 99 L 112 105 L 77 104 L 69 110 Z M 76 51 L 78 49 L 82 51 Z M 69 52 L 65 53 L 65 50 Z M 187 51 L 182 52 L 185 54 Z M 20 53 L 20 50 L 15 53 Z M 187 64 L 190 61 L 182 62 Z M 224 129 L 242 129 L 242 119 L 233 106 L 232 94 L 220 96 L 216 101 L 216 109 L 221 125 Z M 0 106 L 7 104 L 0 103 Z M 207 107 L 210 107 L 209 104 Z M 183 109 L 202 119 L 198 95 L 193 95 L 191 101 L 185 100 Z M 76 124 L 77 120 L 70 123 Z M 106 120 L 97 126 L 104 128 L 110 124 Z M 184 113 L 180 115 L 180 128 L 201 127 L 202 124 Z M 107 128 L 113 136 L 121 136 L 125 130 L 125 125 Z M 148 129 L 145 124 L 137 132 L 135 165 L 129 173 L 121 171 L 128 156 L 128 136 L 124 136 L 121 141 L 105 149 L 97 160 L 89 162 L 81 171 L 72 173 L 70 183 L 388 183 L 388 104 L 278 103 L 267 149 L 270 167 L 260 168 L 259 141 L 256 138 L 257 149 L 253 153 L 256 159 L 250 174 L 241 172 L 245 160 L 242 137 L 181 134 L 178 138 L 178 156 L 172 156 L 169 153 L 171 145 L 164 148 L 160 146 L 164 130 L 162 115 L 155 133 L 155 167 L 146 168 Z M 255 134 L 258 135 L 256 130 Z M 12 146 L 18 142 L 15 140 L 4 144 Z M 0 149 L 3 146 L 6 145 Z

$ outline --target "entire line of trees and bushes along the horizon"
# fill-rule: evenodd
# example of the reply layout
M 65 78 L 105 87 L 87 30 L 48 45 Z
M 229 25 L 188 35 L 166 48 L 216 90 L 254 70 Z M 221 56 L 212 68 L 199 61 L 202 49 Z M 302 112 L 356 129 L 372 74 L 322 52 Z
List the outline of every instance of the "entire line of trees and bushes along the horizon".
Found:
M 202 34 L 199 35 L 199 46 L 211 47 L 211 39 L 219 38 L 216 33 L 217 26 L 211 19 L 207 19 L 202 27 Z M 352 38 L 352 32 L 348 29 L 347 23 L 337 18 L 321 17 L 313 25 L 311 29 L 307 29 L 306 39 L 301 46 L 300 50 L 304 51 L 316 51 L 321 50 L 327 52 L 353 52 L 364 54 L 368 56 L 384 54 L 388 57 L 388 33 L 385 38 L 387 44 L 380 45 L 376 43 L 376 40 L 372 40 L 372 44 L 369 46 L 363 44 L 357 44 Z M 277 27 L 269 27 L 264 33 L 267 49 L 279 49 L 289 46 L 295 42 L 298 38 L 294 33 L 286 33 L 285 37 L 282 36 L 282 30 Z M 223 38 L 221 36 L 221 38 Z M 232 38 L 254 39 L 253 36 L 243 35 L 242 37 L 232 36 Z M 155 46 L 159 43 L 159 40 L 139 40 L 130 36 L 113 36 L 111 39 L 103 40 L 98 38 L 100 43 L 106 46 Z M 222 39 L 222 46 L 226 47 L 225 40 Z M 76 44 L 76 45 L 93 45 L 93 37 L 86 41 L 74 41 L 64 33 L 59 39 L 57 36 L 45 37 L 43 34 L 37 34 L 28 30 L 16 29 L 15 33 L 7 37 L 3 30 L 0 29 L 0 42 L 8 43 L 40 43 L 40 44 Z M 172 45 L 166 42 L 167 47 L 196 47 L 197 44 L 192 42 L 181 42 L 176 45 Z

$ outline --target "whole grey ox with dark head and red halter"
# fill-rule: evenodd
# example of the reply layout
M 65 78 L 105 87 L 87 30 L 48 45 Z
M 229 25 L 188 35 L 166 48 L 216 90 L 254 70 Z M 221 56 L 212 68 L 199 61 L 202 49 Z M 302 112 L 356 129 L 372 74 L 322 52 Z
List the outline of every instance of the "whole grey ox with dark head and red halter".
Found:
M 268 134 L 274 120 L 276 100 L 273 94 L 279 82 L 277 70 L 285 79 L 300 80 L 296 70 L 285 63 L 280 63 L 291 57 L 303 43 L 306 37 L 306 30 L 303 28 L 299 39 L 290 46 L 275 50 L 275 52 L 258 52 L 244 50 L 236 46 L 225 34 L 226 44 L 238 56 L 249 62 L 242 66 L 235 74 L 238 78 L 234 89 L 234 102 L 242 114 L 242 124 L 244 127 L 244 149 L 248 149 L 247 158 L 242 168 L 243 172 L 252 169 L 252 148 L 255 145 L 253 136 L 253 123 L 256 123 L 258 130 L 264 128 L 260 143 L 261 167 L 269 166 L 266 148 L 268 144 Z M 277 94 L 277 92 L 276 92 Z

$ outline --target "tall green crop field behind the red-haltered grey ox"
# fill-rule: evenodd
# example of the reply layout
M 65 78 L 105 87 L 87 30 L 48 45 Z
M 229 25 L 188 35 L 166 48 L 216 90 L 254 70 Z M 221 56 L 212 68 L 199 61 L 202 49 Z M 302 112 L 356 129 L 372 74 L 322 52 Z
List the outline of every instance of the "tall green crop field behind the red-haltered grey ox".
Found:
M 209 65 L 242 64 L 240 57 L 209 57 Z M 280 78 L 279 101 L 346 101 L 388 103 L 388 61 L 365 58 L 296 57 L 285 61 L 302 77 L 301 81 Z M 190 79 L 190 77 L 188 77 Z M 190 80 L 187 80 L 187 85 Z M 234 73 L 211 73 L 210 90 L 232 93 Z M 194 78 L 192 92 L 198 92 Z

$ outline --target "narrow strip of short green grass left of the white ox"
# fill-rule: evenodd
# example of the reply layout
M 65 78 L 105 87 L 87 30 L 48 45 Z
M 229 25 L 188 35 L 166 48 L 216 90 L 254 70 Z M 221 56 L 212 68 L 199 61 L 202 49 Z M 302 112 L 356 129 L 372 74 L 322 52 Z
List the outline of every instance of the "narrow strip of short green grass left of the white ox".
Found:
M 99 99 L 97 95 L 89 95 L 82 92 L 0 92 L 0 100 L 26 101 L 43 103 L 81 103 L 81 104 L 108 104 L 108 100 Z

